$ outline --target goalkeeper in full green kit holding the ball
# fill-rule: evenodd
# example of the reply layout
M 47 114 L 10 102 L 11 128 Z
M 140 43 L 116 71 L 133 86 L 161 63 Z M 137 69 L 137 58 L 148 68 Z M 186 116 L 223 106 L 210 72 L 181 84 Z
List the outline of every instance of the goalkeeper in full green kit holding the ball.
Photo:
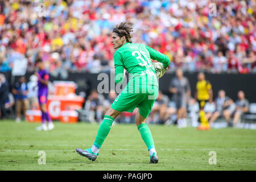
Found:
M 150 155 L 150 163 L 158 163 L 154 140 L 146 124 L 146 118 L 152 109 L 158 94 L 158 78 L 155 74 L 155 65 L 152 60 L 162 63 L 162 77 L 170 65 L 168 56 L 145 46 L 144 44 L 131 43 L 130 32 L 133 31 L 130 23 L 122 22 L 114 26 L 112 44 L 117 51 L 114 53 L 115 82 L 121 84 L 124 70 L 129 73 L 129 82 L 122 92 L 115 98 L 112 106 L 106 111 L 104 119 L 98 129 L 93 146 L 82 150 L 76 148 L 78 154 L 90 160 L 96 160 L 98 152 L 109 134 L 114 119 L 122 112 L 133 112 L 138 107 L 135 117 L 139 133 Z M 158 67 L 159 68 L 159 67 Z

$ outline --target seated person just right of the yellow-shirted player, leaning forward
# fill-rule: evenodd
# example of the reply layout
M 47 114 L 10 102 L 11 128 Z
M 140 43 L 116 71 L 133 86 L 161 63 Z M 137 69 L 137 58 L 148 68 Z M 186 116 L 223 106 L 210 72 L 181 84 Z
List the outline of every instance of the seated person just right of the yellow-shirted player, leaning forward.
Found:
M 215 100 L 216 110 L 214 113 L 210 116 L 209 123 L 212 125 L 214 121 L 221 115 L 223 115 L 226 110 L 233 113 L 234 109 L 234 102 L 231 98 L 226 96 L 226 93 L 224 90 L 218 91 L 218 97 Z

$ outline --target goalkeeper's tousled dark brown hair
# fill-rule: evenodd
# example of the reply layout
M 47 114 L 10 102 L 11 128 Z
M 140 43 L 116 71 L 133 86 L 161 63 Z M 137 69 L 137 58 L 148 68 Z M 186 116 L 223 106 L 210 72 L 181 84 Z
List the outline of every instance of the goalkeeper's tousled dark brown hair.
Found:
M 120 24 L 116 24 L 114 26 L 113 32 L 117 34 L 119 38 L 122 38 L 122 36 L 125 36 L 126 42 L 132 43 L 130 32 L 133 32 L 133 27 L 131 27 L 131 23 L 122 22 Z

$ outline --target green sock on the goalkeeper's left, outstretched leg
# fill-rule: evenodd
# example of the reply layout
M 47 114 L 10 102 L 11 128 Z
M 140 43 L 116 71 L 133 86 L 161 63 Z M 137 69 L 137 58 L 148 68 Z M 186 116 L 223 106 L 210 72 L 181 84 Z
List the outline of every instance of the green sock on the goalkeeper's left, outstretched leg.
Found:
M 109 115 L 104 115 L 104 119 L 98 129 L 98 133 L 96 135 L 96 139 L 94 140 L 94 146 L 97 148 L 101 148 L 102 143 L 106 139 L 111 129 L 112 123 L 114 122 L 114 118 Z

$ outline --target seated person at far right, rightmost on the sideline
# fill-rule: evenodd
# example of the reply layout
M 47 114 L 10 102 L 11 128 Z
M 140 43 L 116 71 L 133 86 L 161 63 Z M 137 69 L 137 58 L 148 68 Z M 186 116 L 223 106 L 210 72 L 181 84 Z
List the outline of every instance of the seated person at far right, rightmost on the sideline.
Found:
M 245 98 L 245 93 L 243 93 L 243 91 L 240 90 L 237 93 L 237 97 L 238 100 L 236 101 L 236 107 L 233 113 L 230 110 L 225 110 L 225 112 L 223 113 L 226 121 L 228 122 L 228 126 L 237 127 L 238 121 L 243 115 L 243 113 L 249 111 L 249 101 Z M 234 116 L 233 122 L 230 122 L 230 118 L 232 117 L 232 115 Z

